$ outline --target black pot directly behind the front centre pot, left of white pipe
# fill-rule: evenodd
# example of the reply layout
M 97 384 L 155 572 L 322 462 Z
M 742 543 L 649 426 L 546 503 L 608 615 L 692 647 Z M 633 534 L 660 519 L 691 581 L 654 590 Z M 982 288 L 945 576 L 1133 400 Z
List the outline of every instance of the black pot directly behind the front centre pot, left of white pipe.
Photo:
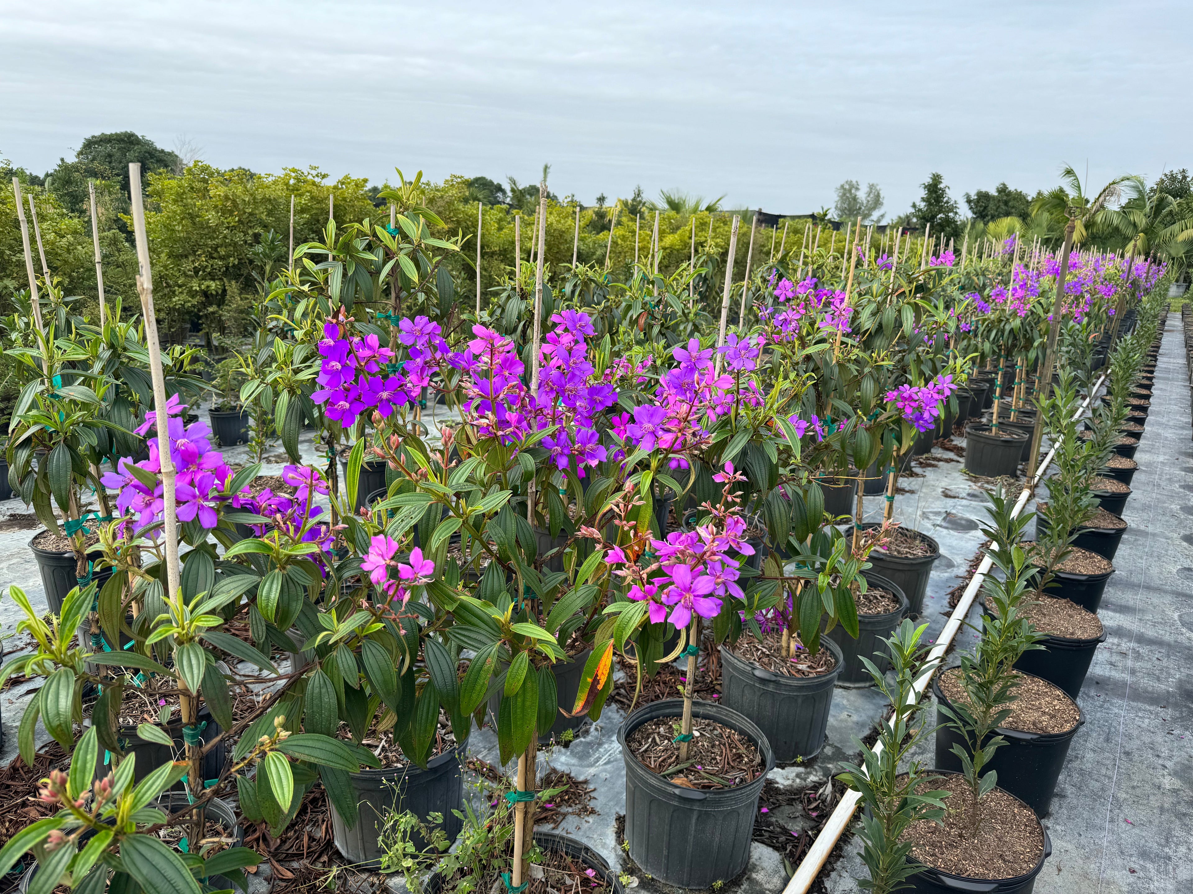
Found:
M 787 764 L 820 753 L 833 707 L 833 689 L 845 668 L 841 647 L 821 637 L 834 658 L 833 670 L 815 677 L 772 673 L 721 650 L 722 704 L 748 718 L 771 744 L 774 759 Z

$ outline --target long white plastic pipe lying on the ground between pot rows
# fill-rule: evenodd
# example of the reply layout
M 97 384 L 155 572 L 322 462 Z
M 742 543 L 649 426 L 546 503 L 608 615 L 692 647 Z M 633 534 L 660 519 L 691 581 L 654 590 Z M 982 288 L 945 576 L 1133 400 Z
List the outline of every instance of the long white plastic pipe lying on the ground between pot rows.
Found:
M 1104 373 L 1094 387 L 1090 389 L 1089 395 L 1084 401 L 1081 402 L 1081 406 L 1077 408 L 1077 412 L 1074 414 L 1074 421 L 1081 418 L 1081 415 L 1089 406 L 1089 402 L 1098 390 L 1101 387 L 1102 383 L 1106 381 L 1106 374 Z M 1024 485 L 1024 492 L 1019 495 L 1019 499 L 1015 501 L 1015 508 L 1012 510 L 1013 519 L 1018 517 L 1024 507 L 1027 505 L 1027 501 L 1031 498 L 1032 489 L 1044 476 L 1049 465 L 1052 462 L 1052 457 L 1056 455 L 1056 445 L 1052 445 L 1052 449 L 1047 452 L 1044 457 L 1044 461 L 1039 464 L 1036 468 L 1036 474 L 1032 476 L 1027 484 Z M 991 548 L 994 546 L 991 545 Z M 969 582 L 969 586 L 965 588 L 965 592 L 962 594 L 960 601 L 957 603 L 957 608 L 948 616 L 948 622 L 945 625 L 945 629 L 940 632 L 940 637 L 937 639 L 937 645 L 932 647 L 928 652 L 928 663 L 939 664 L 944 660 L 945 652 L 948 651 L 948 646 L 953 641 L 953 637 L 962 628 L 965 622 L 965 615 L 969 614 L 970 608 L 973 604 L 973 598 L 977 596 L 978 589 L 982 586 L 982 581 L 990 571 L 990 554 L 987 553 L 982 557 L 982 564 L 977 566 L 977 571 L 973 572 L 973 578 Z M 935 669 L 934 669 L 935 670 Z M 915 690 L 911 694 L 914 702 L 920 701 L 923 691 L 928 688 L 928 683 L 932 681 L 932 673 L 923 676 L 919 683 L 915 685 Z M 882 751 L 882 743 L 874 745 L 874 752 Z M 783 894 L 808 894 L 808 889 L 816 881 L 816 876 L 820 875 L 821 869 L 824 867 L 824 862 L 828 859 L 829 855 L 833 852 L 833 848 L 836 846 L 837 840 L 845 833 L 846 827 L 849 825 L 849 820 L 853 819 L 853 812 L 858 809 L 858 802 L 861 800 L 861 793 L 849 789 L 845 793 L 841 802 L 833 811 L 833 814 L 828 818 L 824 824 L 824 828 L 821 830 L 820 836 L 812 843 L 812 846 L 808 850 L 808 853 L 801 861 L 799 865 L 796 867 L 795 875 L 787 882 L 787 887 L 783 889 Z

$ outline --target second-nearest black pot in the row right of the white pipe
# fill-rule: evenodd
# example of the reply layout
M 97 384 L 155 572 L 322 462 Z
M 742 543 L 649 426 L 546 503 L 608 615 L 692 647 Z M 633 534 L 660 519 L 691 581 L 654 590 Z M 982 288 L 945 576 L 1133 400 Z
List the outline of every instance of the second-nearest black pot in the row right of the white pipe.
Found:
M 937 702 L 951 704 L 940 690 L 940 682 L 932 681 L 932 694 Z M 1077 707 L 1077 724 L 1067 733 L 1025 733 L 1020 730 L 999 727 L 997 734 L 1006 739 L 994 752 L 994 758 L 985 765 L 987 771 L 999 772 L 999 788 L 1009 791 L 1026 803 L 1037 817 L 1046 817 L 1052 805 L 1052 793 L 1064 768 L 1064 758 L 1069 753 L 1073 737 L 1086 722 L 1086 715 Z M 953 745 L 965 747 L 965 739 L 956 730 L 947 726 L 948 718 L 937 712 L 937 766 L 941 770 L 959 772 L 960 758 L 953 753 Z

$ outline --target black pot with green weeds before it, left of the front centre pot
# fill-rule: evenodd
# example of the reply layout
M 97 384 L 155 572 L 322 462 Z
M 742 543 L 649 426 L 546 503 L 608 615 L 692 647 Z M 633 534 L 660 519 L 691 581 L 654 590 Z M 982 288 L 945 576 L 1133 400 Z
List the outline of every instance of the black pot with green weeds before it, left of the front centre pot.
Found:
M 416 764 L 404 764 L 350 772 L 352 797 L 357 802 L 357 821 L 348 828 L 339 811 L 332 808 L 335 849 L 350 863 L 377 867 L 382 857 L 377 839 L 389 811 L 410 811 L 424 822 L 427 821 L 427 814 L 441 813 L 441 827 L 447 840 L 455 842 L 464 827 L 464 820 L 453 811 L 464 809 L 464 775 L 460 772 L 460 764 L 466 749 L 465 740 L 431 758 L 426 770 Z M 418 834 L 414 840 L 419 848 L 428 844 Z

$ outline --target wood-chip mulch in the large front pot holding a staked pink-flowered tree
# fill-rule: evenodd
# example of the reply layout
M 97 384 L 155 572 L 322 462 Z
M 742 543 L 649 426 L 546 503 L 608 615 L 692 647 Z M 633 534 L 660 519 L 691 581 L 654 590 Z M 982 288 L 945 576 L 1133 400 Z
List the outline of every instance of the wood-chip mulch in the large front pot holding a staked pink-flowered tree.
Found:
M 676 786 L 723 789 L 742 786 L 766 771 L 749 737 L 707 718 L 692 718 L 687 760 L 679 759 L 680 718 L 655 718 L 635 730 L 625 746 L 651 772 Z

